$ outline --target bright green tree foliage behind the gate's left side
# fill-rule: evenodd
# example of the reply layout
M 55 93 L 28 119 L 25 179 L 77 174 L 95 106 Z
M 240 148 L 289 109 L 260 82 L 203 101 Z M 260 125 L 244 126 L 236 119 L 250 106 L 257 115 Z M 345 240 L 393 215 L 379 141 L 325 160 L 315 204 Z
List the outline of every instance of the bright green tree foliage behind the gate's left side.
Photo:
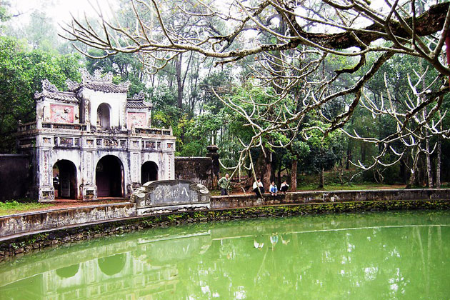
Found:
M 34 92 L 49 79 L 64 89 L 66 79 L 79 80 L 78 55 L 57 55 L 27 46 L 10 37 L 0 37 L 0 152 L 14 151 L 14 132 L 19 120 L 34 121 Z

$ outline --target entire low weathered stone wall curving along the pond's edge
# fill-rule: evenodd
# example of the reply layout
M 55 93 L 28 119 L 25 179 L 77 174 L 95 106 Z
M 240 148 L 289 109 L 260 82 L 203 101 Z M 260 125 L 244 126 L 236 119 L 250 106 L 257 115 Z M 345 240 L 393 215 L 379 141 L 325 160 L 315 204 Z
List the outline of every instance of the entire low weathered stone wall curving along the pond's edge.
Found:
M 379 202 L 387 201 L 430 201 L 450 200 L 450 189 L 408 189 L 408 190 L 374 190 L 374 191 L 305 191 L 286 195 L 264 195 L 258 199 L 251 195 L 211 196 L 211 211 L 219 209 L 239 209 L 256 206 L 334 204 L 345 202 Z M 181 207 L 181 206 L 180 206 Z M 181 211 L 194 211 L 179 206 L 165 206 L 161 214 L 175 214 Z M 208 211 L 205 209 L 204 211 Z M 101 222 L 116 221 L 138 217 L 136 204 L 103 204 L 84 206 L 73 209 L 54 209 L 37 211 L 12 216 L 0 217 L 0 240 L 14 234 L 26 234 L 31 231 L 51 231 L 71 226 L 84 226 Z

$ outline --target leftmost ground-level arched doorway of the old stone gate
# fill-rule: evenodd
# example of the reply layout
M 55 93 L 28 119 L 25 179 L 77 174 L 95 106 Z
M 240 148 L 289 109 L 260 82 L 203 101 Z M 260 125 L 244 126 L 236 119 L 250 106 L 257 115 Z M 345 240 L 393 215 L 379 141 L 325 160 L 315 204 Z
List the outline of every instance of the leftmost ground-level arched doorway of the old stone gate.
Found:
M 53 166 L 55 198 L 76 199 L 76 167 L 66 159 L 56 161 Z

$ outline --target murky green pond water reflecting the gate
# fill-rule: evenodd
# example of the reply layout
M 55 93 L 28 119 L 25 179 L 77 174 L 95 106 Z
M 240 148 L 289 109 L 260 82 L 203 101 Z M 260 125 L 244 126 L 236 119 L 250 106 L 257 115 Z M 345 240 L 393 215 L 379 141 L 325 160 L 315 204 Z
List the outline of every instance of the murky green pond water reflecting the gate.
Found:
M 0 264 L 0 299 L 450 299 L 449 226 L 419 211 L 139 231 Z

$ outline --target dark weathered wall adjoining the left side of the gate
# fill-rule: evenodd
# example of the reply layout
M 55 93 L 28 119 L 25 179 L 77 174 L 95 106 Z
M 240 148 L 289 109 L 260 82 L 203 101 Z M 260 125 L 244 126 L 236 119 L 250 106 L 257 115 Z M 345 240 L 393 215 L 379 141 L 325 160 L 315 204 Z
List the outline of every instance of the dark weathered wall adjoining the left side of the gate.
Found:
M 0 154 L 0 201 L 23 198 L 30 187 L 29 156 Z

